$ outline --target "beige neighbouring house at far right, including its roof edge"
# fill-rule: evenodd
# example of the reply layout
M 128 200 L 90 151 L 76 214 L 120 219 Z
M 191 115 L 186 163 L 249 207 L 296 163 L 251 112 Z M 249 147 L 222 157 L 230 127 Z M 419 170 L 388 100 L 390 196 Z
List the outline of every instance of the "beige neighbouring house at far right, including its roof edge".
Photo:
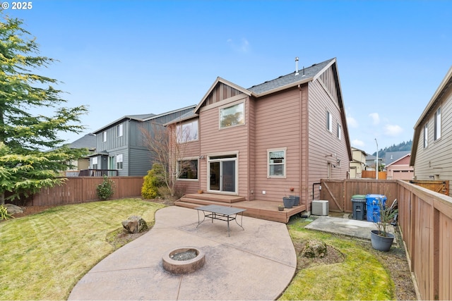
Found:
M 452 183 L 452 67 L 415 124 L 410 166 L 415 180 Z M 452 187 L 449 187 L 449 191 Z

